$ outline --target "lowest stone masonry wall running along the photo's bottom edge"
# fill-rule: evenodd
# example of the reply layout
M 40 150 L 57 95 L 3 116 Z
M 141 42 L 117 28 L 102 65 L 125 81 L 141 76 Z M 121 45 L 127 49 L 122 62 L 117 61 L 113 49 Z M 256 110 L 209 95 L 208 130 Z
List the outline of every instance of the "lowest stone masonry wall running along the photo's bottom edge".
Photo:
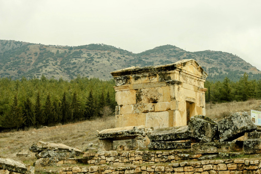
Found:
M 260 168 L 261 162 L 259 160 L 228 159 L 127 167 L 112 167 L 107 165 L 68 167 L 61 170 L 59 174 L 260 174 Z

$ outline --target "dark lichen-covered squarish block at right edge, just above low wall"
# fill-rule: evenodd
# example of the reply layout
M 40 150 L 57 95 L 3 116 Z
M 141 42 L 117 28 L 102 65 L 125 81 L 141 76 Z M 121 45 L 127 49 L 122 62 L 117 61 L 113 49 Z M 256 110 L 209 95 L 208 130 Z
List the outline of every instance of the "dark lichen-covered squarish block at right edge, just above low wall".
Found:
M 261 139 L 250 139 L 243 142 L 243 152 L 246 154 L 261 153 Z

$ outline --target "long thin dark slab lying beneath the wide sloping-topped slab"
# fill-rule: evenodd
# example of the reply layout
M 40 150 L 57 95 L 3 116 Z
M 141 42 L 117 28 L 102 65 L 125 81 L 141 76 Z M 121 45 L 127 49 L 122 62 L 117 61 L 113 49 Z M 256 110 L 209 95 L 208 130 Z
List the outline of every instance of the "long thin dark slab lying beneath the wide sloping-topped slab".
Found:
M 175 142 L 175 141 L 151 141 L 149 144 L 150 150 L 169 150 L 169 149 L 182 149 L 190 148 L 191 141 L 186 142 Z

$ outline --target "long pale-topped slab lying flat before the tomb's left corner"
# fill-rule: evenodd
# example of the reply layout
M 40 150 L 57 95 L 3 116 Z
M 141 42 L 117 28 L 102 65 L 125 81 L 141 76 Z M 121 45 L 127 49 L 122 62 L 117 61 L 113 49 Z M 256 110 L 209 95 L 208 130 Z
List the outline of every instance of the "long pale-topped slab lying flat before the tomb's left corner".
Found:
M 121 128 L 104 129 L 102 131 L 97 131 L 96 136 L 99 139 L 107 140 L 127 140 L 133 139 L 137 136 L 146 136 L 150 129 L 145 126 L 127 126 Z

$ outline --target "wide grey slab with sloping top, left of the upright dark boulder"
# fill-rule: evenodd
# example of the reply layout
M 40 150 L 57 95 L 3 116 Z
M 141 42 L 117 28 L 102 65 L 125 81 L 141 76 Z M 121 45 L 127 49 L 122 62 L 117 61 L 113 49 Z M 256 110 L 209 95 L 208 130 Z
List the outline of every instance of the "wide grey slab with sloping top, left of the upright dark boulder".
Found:
M 189 140 L 188 126 L 177 126 L 155 129 L 149 136 L 151 141 Z

